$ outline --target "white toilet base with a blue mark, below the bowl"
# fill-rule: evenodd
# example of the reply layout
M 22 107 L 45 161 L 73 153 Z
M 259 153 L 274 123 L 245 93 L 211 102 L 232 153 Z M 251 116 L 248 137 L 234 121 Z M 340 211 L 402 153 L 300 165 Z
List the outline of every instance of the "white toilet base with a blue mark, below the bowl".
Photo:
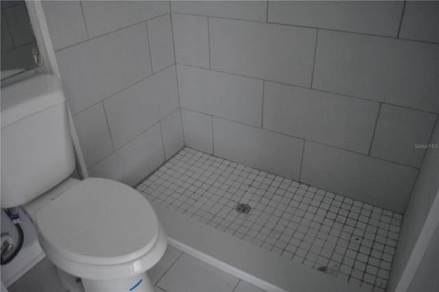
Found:
M 82 278 L 82 284 L 86 292 L 91 291 L 133 291 L 154 292 L 154 287 L 147 272 L 129 278 L 117 280 L 93 280 Z

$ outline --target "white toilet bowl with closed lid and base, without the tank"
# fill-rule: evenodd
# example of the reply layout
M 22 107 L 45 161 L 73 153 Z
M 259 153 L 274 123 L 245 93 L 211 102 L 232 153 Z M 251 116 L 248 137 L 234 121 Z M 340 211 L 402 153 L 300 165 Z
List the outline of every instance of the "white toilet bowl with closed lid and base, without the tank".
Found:
M 47 258 L 81 278 L 86 291 L 130 291 L 139 281 L 134 291 L 143 291 L 150 282 L 145 272 L 167 244 L 145 197 L 102 178 L 82 180 L 51 199 L 34 221 Z

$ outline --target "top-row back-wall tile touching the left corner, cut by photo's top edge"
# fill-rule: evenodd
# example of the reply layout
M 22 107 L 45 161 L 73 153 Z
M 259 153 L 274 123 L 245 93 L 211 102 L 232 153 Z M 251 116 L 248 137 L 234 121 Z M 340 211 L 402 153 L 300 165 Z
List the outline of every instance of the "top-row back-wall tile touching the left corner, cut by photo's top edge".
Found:
M 267 1 L 171 1 L 171 10 L 247 21 L 267 19 Z

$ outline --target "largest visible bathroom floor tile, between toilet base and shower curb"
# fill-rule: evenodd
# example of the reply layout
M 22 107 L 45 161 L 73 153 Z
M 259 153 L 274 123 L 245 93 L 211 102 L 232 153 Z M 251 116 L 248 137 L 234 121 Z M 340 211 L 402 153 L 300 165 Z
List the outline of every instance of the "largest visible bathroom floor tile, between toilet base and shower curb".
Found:
M 232 292 L 238 282 L 239 278 L 183 254 L 158 281 L 157 286 L 168 292 Z

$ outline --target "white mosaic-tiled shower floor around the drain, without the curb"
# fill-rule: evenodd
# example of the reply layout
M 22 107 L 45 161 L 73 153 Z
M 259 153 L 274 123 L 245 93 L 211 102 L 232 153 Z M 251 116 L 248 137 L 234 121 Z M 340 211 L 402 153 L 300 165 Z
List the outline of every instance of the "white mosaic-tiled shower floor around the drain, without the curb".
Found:
M 294 263 L 385 291 L 400 214 L 190 148 L 137 189 L 155 204 Z M 240 203 L 250 212 L 237 212 Z

